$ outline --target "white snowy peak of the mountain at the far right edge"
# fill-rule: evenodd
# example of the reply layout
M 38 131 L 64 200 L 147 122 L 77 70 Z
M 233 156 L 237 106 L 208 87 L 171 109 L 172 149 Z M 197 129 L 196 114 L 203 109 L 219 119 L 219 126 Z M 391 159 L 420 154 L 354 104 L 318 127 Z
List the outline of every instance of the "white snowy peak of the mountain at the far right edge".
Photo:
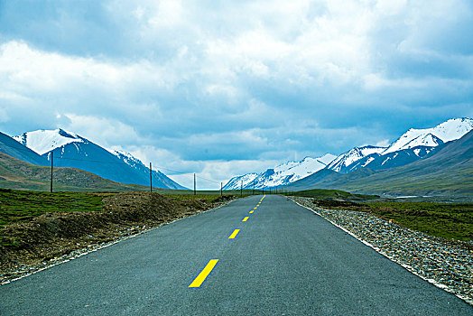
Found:
M 437 146 L 459 139 L 472 129 L 473 119 L 467 117 L 452 118 L 432 128 L 411 128 L 381 154 L 394 153 L 416 146 Z

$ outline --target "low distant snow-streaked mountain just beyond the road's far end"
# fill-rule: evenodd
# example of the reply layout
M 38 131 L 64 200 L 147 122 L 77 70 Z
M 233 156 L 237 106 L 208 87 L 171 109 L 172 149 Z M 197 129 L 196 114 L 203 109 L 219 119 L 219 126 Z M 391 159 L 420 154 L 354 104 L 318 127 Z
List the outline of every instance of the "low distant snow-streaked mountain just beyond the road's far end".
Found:
M 336 156 L 330 153 L 326 153 L 321 157 L 305 157 L 300 162 L 287 162 L 276 166 L 274 169 L 267 169 L 259 174 L 257 173 L 246 173 L 242 176 L 236 176 L 227 182 L 224 186 L 224 190 L 238 190 L 242 186 L 243 188 L 253 188 L 255 183 L 255 189 L 273 188 L 281 185 L 289 184 L 293 181 L 300 180 L 307 176 L 310 176 L 314 172 L 325 168 Z

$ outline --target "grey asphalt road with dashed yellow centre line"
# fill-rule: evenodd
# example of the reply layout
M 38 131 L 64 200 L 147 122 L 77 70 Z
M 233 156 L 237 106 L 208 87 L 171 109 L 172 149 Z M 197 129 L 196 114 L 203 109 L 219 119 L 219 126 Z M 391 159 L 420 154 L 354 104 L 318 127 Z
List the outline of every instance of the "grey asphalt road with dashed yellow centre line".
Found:
M 266 196 L 254 210 L 261 198 L 2 285 L 0 315 L 473 314 L 290 200 Z

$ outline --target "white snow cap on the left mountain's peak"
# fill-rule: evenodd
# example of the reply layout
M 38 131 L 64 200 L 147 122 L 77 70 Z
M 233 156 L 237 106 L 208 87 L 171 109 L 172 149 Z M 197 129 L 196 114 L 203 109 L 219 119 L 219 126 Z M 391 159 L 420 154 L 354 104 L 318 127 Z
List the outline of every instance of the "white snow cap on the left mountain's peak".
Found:
M 87 142 L 87 139 L 60 128 L 27 132 L 14 136 L 14 139 L 39 154 L 51 152 L 65 144 Z

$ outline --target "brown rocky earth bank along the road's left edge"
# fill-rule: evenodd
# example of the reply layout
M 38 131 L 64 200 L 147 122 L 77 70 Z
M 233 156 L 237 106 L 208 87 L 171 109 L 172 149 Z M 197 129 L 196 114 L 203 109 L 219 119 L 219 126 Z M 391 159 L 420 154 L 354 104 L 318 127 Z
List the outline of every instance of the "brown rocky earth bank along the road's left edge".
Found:
M 4 231 L 17 246 L 0 246 L 0 283 L 133 237 L 232 200 L 170 200 L 144 191 L 107 196 L 102 211 L 51 212 Z

